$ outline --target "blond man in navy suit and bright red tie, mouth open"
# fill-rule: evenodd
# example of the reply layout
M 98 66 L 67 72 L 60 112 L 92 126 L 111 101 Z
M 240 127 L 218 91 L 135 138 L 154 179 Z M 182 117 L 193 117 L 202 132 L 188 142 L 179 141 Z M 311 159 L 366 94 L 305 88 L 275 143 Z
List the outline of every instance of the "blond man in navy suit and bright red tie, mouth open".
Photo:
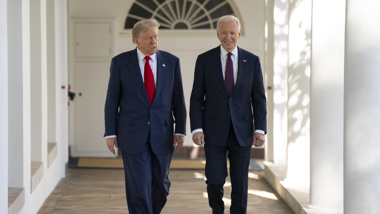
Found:
M 112 153 L 114 145 L 122 152 L 130 214 L 161 212 L 175 145 L 178 152 L 186 134 L 179 59 L 157 50 L 158 27 L 156 19 L 137 22 L 132 30 L 137 48 L 111 61 L 104 136 Z

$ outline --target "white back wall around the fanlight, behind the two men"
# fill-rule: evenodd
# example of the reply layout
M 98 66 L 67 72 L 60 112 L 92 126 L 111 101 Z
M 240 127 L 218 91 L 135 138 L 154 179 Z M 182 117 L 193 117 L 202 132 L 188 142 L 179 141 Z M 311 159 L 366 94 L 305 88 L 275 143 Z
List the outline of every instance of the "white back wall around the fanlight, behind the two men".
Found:
M 136 46 L 132 43 L 131 33 L 120 34 L 120 23 L 125 22 L 123 14 L 129 11 L 131 1 L 125 0 L 69 0 L 70 19 L 114 19 L 115 29 L 115 55 L 130 51 Z M 241 36 L 237 45 L 247 51 L 258 55 L 264 71 L 264 0 L 235 0 L 235 5 L 242 18 L 244 35 Z M 199 54 L 204 53 L 220 45 L 215 34 L 199 34 L 191 31 L 188 35 L 168 34 L 160 31 L 158 48 L 168 51 L 180 59 L 182 80 L 184 84 L 185 101 L 189 110 L 190 94 L 193 86 L 195 61 Z M 70 79 L 73 82 L 73 77 Z M 73 85 L 73 91 L 75 86 Z M 102 104 L 104 105 L 104 104 Z M 70 108 L 70 133 L 74 129 L 73 109 Z M 101 133 L 103 134 L 103 133 Z M 71 136 L 71 135 L 70 135 Z M 70 144 L 74 138 L 70 137 Z M 187 118 L 187 136 L 185 146 L 193 146 L 190 130 L 190 119 Z

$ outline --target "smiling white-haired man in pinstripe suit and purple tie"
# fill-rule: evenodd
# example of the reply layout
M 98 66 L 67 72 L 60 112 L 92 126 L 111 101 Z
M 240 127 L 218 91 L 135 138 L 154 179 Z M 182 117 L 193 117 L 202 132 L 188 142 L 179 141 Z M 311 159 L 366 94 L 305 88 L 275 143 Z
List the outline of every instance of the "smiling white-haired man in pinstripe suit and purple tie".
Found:
M 190 97 L 193 141 L 204 144 L 206 184 L 213 214 L 223 214 L 223 185 L 230 160 L 231 214 L 247 212 L 252 145 L 264 144 L 266 97 L 259 57 L 237 47 L 239 19 L 217 23 L 221 45 L 198 56 Z M 252 111 L 253 109 L 253 111 Z

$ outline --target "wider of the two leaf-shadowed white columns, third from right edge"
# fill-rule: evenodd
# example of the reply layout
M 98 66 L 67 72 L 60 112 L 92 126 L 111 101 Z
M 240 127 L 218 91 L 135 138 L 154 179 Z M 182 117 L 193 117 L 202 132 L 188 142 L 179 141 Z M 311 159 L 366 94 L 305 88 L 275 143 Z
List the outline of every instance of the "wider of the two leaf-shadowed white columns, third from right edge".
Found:
M 289 1 L 287 180 L 309 188 L 311 0 Z

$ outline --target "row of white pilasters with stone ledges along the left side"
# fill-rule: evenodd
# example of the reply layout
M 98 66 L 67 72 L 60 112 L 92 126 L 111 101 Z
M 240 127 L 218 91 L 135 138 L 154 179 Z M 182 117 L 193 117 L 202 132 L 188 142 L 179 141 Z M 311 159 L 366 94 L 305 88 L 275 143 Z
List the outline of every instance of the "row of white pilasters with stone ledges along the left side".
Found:
M 66 5 L 0 0 L 0 213 L 36 213 L 65 176 Z

